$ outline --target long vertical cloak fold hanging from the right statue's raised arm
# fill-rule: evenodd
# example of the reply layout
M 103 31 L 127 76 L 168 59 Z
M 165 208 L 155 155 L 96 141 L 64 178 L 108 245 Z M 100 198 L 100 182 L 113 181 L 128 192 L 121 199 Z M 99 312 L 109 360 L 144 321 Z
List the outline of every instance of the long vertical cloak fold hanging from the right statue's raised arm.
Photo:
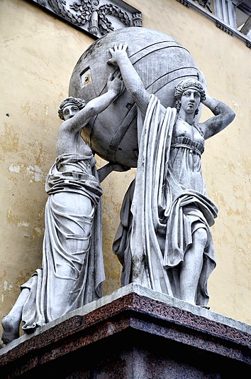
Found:
M 130 238 L 133 282 L 170 295 L 172 288 L 163 267 L 156 232 L 162 228 L 159 213 L 167 213 L 167 209 L 160 212 L 160 208 L 166 205 L 163 204 L 162 187 L 175 117 L 175 109 L 167 108 L 164 114 L 160 112 L 160 101 L 152 95 L 140 137 Z

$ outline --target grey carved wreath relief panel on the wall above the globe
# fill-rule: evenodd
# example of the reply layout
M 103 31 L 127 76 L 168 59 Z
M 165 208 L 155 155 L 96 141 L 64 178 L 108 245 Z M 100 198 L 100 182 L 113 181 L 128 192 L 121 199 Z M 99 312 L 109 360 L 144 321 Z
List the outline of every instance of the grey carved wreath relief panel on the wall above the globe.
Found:
M 98 37 L 117 28 L 142 26 L 140 11 L 121 0 L 37 0 L 36 2 L 74 26 Z

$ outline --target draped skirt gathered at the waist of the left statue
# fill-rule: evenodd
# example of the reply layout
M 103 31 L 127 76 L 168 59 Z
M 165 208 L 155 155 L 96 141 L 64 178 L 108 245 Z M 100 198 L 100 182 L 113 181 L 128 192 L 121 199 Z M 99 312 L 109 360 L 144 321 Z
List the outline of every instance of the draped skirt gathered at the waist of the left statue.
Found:
M 62 314 L 102 296 L 104 263 L 101 243 L 101 195 L 95 159 L 65 154 L 59 156 L 48 174 L 45 189 L 43 269 L 22 285 L 30 289 L 23 306 L 23 329 L 57 318 L 57 299 L 63 296 Z M 65 171 L 65 166 L 76 171 Z M 90 173 L 90 174 L 87 174 Z M 83 214 L 87 198 L 92 209 Z M 65 267 L 69 269 L 65 270 Z

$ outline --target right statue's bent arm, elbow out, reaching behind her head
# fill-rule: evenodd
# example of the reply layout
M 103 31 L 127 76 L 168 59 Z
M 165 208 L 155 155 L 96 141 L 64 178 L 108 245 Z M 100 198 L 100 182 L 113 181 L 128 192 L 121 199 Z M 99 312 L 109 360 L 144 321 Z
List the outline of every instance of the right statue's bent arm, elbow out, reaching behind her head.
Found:
M 208 139 L 213 137 L 221 130 L 225 129 L 230 122 L 235 118 L 235 112 L 219 100 L 213 99 L 213 97 L 206 95 L 206 100 L 203 100 L 203 105 L 209 108 L 214 114 L 214 117 L 202 122 L 200 124 L 204 131 L 204 138 Z

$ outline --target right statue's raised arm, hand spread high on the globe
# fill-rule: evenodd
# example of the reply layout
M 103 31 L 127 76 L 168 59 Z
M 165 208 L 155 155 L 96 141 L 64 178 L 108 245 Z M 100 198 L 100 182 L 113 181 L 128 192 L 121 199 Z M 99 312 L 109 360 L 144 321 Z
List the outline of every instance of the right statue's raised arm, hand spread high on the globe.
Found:
M 145 90 L 142 80 L 140 79 L 135 68 L 133 68 L 133 65 L 126 53 L 127 48 L 128 45 L 122 45 L 122 43 L 119 46 L 115 45 L 113 48 L 109 48 L 111 59 L 108 60 L 108 63 L 118 65 L 121 70 L 126 89 L 130 92 L 130 95 L 133 96 L 133 99 L 140 108 L 140 111 L 145 114 L 147 105 L 150 102 L 150 93 Z

